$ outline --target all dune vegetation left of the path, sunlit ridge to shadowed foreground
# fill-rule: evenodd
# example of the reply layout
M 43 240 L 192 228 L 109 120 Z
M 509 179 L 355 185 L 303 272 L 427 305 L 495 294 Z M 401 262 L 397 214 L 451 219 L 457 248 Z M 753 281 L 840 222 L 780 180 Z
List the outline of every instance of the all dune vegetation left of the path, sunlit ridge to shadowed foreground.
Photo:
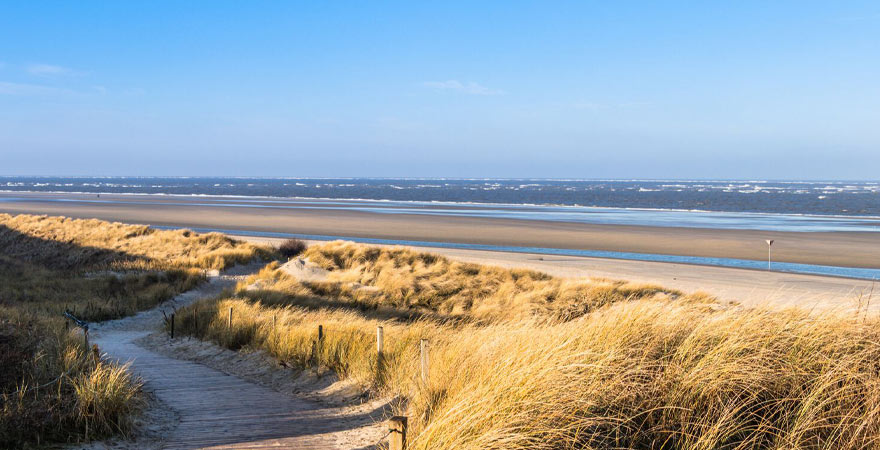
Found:
M 143 402 L 139 381 L 96 357 L 62 312 L 123 317 L 206 269 L 273 256 L 219 234 L 0 214 L 0 448 L 124 434 Z

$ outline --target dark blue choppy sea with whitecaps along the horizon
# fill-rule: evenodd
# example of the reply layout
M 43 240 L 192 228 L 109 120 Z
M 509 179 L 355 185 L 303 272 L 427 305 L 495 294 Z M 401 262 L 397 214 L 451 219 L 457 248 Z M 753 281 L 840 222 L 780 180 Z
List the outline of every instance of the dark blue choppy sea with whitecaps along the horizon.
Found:
M 0 177 L 0 189 L 880 218 L 875 181 Z

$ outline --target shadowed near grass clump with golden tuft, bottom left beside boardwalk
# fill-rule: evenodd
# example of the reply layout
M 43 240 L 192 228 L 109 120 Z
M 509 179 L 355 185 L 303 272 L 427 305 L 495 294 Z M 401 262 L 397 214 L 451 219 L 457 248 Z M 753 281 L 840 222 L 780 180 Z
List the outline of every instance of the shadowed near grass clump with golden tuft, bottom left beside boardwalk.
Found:
M 141 383 L 96 358 L 80 330 L 0 307 L 0 448 L 125 435 L 143 406 Z

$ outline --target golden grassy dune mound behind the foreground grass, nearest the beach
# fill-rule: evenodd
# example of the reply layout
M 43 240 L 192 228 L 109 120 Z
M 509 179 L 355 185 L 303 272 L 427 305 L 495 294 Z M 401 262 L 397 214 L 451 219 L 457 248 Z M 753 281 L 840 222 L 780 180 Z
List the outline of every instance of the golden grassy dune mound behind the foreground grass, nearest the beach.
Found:
M 335 241 L 311 246 L 303 257 L 330 271 L 327 282 L 303 283 L 315 295 L 493 321 L 570 320 L 622 300 L 681 295 L 656 285 L 463 263 L 404 247 Z

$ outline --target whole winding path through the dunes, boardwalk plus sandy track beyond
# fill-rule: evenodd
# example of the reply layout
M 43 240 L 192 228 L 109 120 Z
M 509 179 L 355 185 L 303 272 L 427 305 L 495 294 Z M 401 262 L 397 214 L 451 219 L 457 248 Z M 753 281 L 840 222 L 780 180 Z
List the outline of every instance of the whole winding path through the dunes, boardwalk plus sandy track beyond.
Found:
M 239 269 L 239 273 L 247 271 Z M 238 279 L 240 276 L 234 274 L 212 276 L 208 284 L 181 294 L 172 302 L 177 306 L 191 303 L 233 286 Z M 359 430 L 371 428 L 374 423 L 374 414 L 363 408 L 327 406 L 280 394 L 220 370 L 138 345 L 161 321 L 161 309 L 156 308 L 94 327 L 94 342 L 102 352 L 120 362 L 130 362 L 133 372 L 144 379 L 145 390 L 179 417 L 179 423 L 168 431 L 163 442 L 151 447 L 351 449 L 366 448 L 368 443 L 374 443 L 351 445 L 370 436 Z M 143 445 L 117 443 L 109 447 L 141 448 Z

